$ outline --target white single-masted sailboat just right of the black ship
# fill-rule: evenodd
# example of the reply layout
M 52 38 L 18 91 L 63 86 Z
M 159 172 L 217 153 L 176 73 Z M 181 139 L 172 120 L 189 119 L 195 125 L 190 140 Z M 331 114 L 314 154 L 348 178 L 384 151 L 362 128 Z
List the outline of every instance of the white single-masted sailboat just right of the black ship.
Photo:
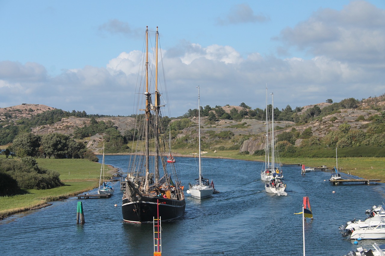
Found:
M 198 86 L 198 140 L 199 140 L 199 178 L 196 179 L 195 184 L 189 183 L 187 194 L 191 194 L 194 198 L 208 198 L 213 195 L 214 188 L 210 185 L 208 179 L 202 176 L 202 162 L 201 162 L 201 112 L 200 112 L 199 86 Z

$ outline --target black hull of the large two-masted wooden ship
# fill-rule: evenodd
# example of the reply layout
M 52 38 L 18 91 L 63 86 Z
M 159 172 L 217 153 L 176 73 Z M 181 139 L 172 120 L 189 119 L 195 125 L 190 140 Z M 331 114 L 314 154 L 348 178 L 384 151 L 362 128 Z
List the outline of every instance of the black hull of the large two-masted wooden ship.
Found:
M 184 214 L 186 202 L 182 200 L 174 200 L 161 197 L 142 196 L 141 200 L 131 202 L 127 198 L 122 199 L 123 221 L 129 223 L 147 223 L 157 218 L 158 201 L 159 200 L 159 216 L 162 221 L 177 219 Z

